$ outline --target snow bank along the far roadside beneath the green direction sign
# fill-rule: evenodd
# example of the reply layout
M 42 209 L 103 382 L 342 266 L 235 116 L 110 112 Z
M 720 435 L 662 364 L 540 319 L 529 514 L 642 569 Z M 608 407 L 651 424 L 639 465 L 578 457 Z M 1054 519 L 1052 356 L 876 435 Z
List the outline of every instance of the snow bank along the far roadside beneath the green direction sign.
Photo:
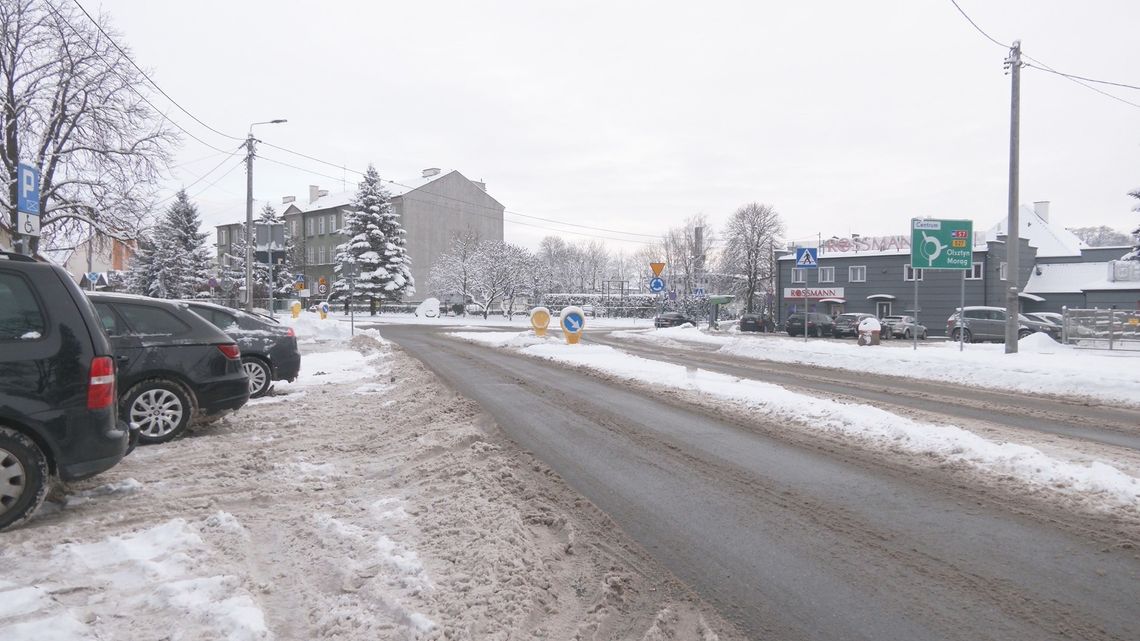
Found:
M 614 338 L 660 344 L 678 341 L 716 346 L 719 352 L 779 363 L 804 363 L 823 368 L 852 370 L 891 376 L 947 383 L 1092 397 L 1105 401 L 1140 406 L 1140 363 L 1135 354 L 1098 352 L 1060 344 L 1044 334 L 1031 334 L 1018 342 L 1018 354 L 1005 354 L 999 343 L 966 344 L 922 342 L 912 349 L 909 341 L 890 341 L 879 347 L 860 347 L 855 341 L 788 339 L 773 335 L 728 336 L 708 334 L 694 327 L 614 332 Z

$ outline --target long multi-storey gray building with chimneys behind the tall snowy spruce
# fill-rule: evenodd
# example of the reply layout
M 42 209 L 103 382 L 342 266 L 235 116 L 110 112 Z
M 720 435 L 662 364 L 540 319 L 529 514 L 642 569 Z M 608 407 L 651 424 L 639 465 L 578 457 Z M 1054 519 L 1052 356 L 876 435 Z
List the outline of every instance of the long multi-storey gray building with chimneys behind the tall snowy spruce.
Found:
M 486 184 L 458 171 L 425 169 L 418 178 L 385 180 L 384 188 L 407 233 L 416 285 L 413 298 L 424 298 L 432 265 L 456 235 L 471 232 L 482 240 L 503 240 L 505 208 L 487 193 Z M 275 203 L 284 216 L 285 233 L 293 241 L 294 271 L 304 279 L 310 298 L 323 299 L 331 291 L 336 246 L 345 241 L 340 229 L 355 195 L 356 190 L 329 194 L 310 185 L 307 202 L 285 196 L 279 205 Z M 218 226 L 219 265 L 225 263 L 235 234 L 241 234 L 243 227 L 241 222 Z

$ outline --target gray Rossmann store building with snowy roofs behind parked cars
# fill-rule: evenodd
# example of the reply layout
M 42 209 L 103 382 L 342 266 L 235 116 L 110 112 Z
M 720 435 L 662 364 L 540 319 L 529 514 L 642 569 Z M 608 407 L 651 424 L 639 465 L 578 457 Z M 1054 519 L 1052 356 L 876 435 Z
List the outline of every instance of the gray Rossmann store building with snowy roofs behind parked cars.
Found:
M 1005 221 L 975 230 L 972 268 L 964 271 L 967 306 L 1004 307 L 1004 292 L 1016 277 L 1024 311 L 1140 309 L 1140 262 L 1116 260 L 1130 248 L 1083 246 L 1068 230 L 1050 225 L 1048 202 L 1023 205 L 1019 219 L 1020 268 L 1016 275 L 1007 269 Z M 805 308 L 829 315 L 906 314 L 917 315 L 930 334 L 945 334 L 946 318 L 961 305 L 963 271 L 911 269 L 910 255 L 910 235 L 823 240 L 815 269 L 796 269 L 793 252 L 781 255 L 777 323 Z

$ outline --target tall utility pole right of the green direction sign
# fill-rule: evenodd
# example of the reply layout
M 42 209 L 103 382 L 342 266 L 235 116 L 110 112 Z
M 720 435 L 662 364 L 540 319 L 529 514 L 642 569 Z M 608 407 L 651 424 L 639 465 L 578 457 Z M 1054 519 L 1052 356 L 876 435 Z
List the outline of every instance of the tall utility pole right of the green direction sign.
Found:
M 1021 121 L 1021 41 L 1015 40 L 1005 58 L 1011 79 L 1009 103 L 1009 219 L 1005 221 L 1005 354 L 1017 354 L 1017 333 L 1020 328 L 1020 265 L 1021 224 L 1018 220 L 1018 133 Z

